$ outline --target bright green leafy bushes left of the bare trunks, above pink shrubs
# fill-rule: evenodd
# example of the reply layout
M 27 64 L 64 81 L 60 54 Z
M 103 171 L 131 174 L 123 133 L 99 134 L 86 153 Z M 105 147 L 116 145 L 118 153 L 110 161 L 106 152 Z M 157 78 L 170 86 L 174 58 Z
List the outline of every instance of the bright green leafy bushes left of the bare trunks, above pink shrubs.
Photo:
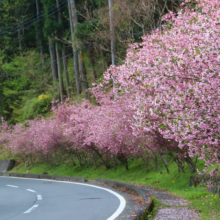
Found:
M 38 68 L 35 68 L 38 66 Z M 53 94 L 48 65 L 40 65 L 36 52 L 29 51 L 2 65 L 0 111 L 9 123 L 47 115 Z M 43 95 L 42 95 L 43 94 Z M 44 95 L 46 94 L 46 95 Z M 43 98 L 39 98 L 39 96 Z

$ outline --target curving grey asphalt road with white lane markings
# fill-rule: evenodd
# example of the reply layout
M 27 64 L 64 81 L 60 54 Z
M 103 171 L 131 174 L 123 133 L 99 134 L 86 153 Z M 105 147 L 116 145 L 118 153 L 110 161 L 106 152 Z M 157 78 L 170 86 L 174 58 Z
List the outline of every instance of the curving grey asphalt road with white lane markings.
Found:
M 125 205 L 98 186 L 0 177 L 0 220 L 114 220 Z

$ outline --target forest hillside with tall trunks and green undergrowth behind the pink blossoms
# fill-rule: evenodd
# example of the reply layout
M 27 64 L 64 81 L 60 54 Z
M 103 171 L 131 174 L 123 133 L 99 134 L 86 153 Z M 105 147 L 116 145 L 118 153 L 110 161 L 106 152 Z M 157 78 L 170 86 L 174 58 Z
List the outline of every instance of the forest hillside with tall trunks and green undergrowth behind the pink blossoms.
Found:
M 15 124 L 49 116 L 53 99 L 90 99 L 112 64 L 111 42 L 120 65 L 128 45 L 180 3 L 114 0 L 111 32 L 107 0 L 1 0 L 0 117 Z

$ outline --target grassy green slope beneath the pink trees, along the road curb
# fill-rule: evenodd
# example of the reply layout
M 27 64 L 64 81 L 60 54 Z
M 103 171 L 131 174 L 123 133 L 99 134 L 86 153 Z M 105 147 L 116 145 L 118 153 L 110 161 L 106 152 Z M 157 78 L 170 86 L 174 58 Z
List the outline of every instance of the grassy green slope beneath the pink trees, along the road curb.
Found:
M 160 174 L 158 171 L 153 171 L 152 167 L 150 167 L 150 172 L 146 173 L 143 162 L 139 160 L 130 162 L 129 165 L 130 169 L 127 171 L 121 165 L 118 166 L 117 170 L 106 170 L 103 166 L 95 170 L 94 167 L 74 167 L 68 163 L 63 163 L 59 166 L 34 164 L 28 167 L 21 163 L 11 172 L 26 173 L 29 171 L 33 174 L 47 172 L 51 175 L 82 176 L 89 179 L 103 178 L 153 186 L 168 190 L 187 199 L 189 207 L 201 212 L 203 219 L 220 219 L 220 199 L 203 187 L 189 187 L 188 182 L 191 174 L 188 167 L 186 168 L 186 173 L 178 173 L 176 164 L 171 162 L 169 164 L 170 174 L 166 173 L 162 165 L 163 174 Z M 202 169 L 203 166 L 203 162 L 199 161 L 198 168 Z

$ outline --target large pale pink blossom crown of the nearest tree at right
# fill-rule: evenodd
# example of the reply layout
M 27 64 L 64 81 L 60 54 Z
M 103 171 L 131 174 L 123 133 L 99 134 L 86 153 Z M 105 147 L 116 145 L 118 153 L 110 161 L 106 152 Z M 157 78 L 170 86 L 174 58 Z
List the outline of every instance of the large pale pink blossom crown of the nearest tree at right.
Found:
M 191 157 L 220 164 L 220 2 L 182 5 L 105 76 L 135 97 L 137 132 L 158 132 Z

